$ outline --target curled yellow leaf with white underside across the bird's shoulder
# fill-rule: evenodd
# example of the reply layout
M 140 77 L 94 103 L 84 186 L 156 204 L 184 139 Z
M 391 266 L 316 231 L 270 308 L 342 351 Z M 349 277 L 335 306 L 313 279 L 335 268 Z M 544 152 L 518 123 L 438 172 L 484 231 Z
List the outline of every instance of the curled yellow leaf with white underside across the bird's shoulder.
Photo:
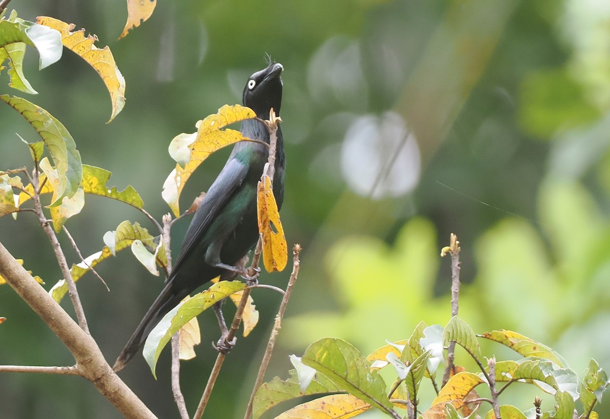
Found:
M 222 129 L 229 124 L 255 118 L 256 113 L 248 107 L 240 105 L 225 105 L 218 109 L 218 113 L 207 116 L 198 122 L 197 135 L 179 134 L 170 143 L 170 156 L 178 164 L 171 171 L 163 184 L 161 196 L 170 206 L 176 217 L 180 217 L 179 198 L 182 188 L 193 171 L 199 167 L 203 160 L 214 151 L 237 141 L 248 140 L 242 133 L 234 129 Z M 194 140 L 193 140 L 194 137 Z

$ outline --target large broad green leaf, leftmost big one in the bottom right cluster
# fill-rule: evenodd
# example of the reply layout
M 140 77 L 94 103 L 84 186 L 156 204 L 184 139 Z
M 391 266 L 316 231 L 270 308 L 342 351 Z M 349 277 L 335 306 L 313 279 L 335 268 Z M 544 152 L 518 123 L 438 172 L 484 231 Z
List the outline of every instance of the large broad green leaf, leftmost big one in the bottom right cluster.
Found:
M 386 382 L 378 371 L 370 370 L 367 359 L 345 340 L 320 339 L 309 345 L 301 359 L 351 395 L 384 412 L 392 411 Z

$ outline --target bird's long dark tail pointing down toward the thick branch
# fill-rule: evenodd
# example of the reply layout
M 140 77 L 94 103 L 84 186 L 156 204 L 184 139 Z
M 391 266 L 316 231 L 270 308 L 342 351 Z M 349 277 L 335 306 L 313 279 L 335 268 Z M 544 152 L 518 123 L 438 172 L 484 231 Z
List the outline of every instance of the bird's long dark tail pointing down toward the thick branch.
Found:
M 171 309 L 176 307 L 185 295 L 181 295 L 181 293 L 173 290 L 171 288 L 171 282 L 168 282 L 168 284 L 165 285 L 165 288 L 163 288 L 157 299 L 152 303 L 151 308 L 148 309 L 148 312 L 146 312 L 146 315 L 142 321 L 140 321 L 140 325 L 135 329 L 134 334 L 131 335 L 131 338 L 129 338 L 129 341 L 123 348 L 123 351 L 121 351 L 121 354 L 115 361 L 114 367 L 112 367 L 113 370 L 120 371 L 123 369 L 127 362 L 129 362 L 129 360 L 138 353 L 140 348 L 142 348 L 148 334 L 154 329 L 154 326 L 156 326 L 163 316 Z

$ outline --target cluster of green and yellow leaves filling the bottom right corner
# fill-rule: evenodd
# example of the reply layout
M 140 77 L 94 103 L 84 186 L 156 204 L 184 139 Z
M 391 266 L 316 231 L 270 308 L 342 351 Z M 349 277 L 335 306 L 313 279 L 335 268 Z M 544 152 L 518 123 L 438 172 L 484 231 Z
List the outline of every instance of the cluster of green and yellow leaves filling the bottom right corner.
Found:
M 479 338 L 500 343 L 513 349 L 521 357 L 496 362 L 492 357 L 487 365 L 479 348 Z M 439 365 L 445 363 L 444 348 L 455 342 L 475 360 L 479 372 L 468 372 L 456 367 L 447 383 L 438 389 L 436 382 Z M 292 356 L 295 370 L 290 378 L 278 377 L 263 384 L 254 399 L 254 419 L 279 403 L 315 396 L 280 414 L 287 418 L 351 418 L 376 408 L 390 417 L 400 418 L 397 409 L 407 411 L 407 418 L 475 418 L 481 404 L 497 407 L 502 418 L 510 419 L 595 419 L 595 404 L 610 384 L 608 376 L 594 359 L 579 381 L 577 374 L 551 348 L 506 330 L 476 335 L 464 320 L 455 316 L 447 326 L 426 326 L 421 322 L 411 337 L 388 343 L 364 357 L 353 345 L 338 338 L 323 338 L 312 343 L 302 357 Z M 392 365 L 396 378 L 387 385 L 380 370 Z M 493 373 L 491 372 L 493 371 Z M 392 374 L 393 375 L 393 374 Z M 428 380 L 436 390 L 436 398 L 428 409 L 419 404 L 420 385 Z M 543 412 L 540 403 L 522 411 L 509 404 L 500 404 L 498 396 L 514 382 L 534 385 L 554 396 L 552 410 Z M 481 390 L 481 387 L 484 390 Z M 498 390 L 498 385 L 501 385 Z M 479 393 L 491 393 L 491 398 Z M 577 406 L 579 401 L 580 406 Z M 576 414 L 576 409 L 582 412 Z M 489 409 L 486 419 L 496 418 Z

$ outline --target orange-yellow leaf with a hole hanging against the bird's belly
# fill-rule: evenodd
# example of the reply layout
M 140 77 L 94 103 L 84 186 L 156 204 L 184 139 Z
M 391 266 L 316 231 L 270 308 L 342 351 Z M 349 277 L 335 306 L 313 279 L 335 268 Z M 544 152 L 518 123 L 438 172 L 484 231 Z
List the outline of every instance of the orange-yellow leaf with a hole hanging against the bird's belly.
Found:
M 263 176 L 263 181 L 259 182 L 257 198 L 259 231 L 263 239 L 265 269 L 267 269 L 267 272 L 282 271 L 288 263 L 288 246 L 282 223 L 279 221 L 278 204 L 273 196 L 271 179 L 266 174 Z

